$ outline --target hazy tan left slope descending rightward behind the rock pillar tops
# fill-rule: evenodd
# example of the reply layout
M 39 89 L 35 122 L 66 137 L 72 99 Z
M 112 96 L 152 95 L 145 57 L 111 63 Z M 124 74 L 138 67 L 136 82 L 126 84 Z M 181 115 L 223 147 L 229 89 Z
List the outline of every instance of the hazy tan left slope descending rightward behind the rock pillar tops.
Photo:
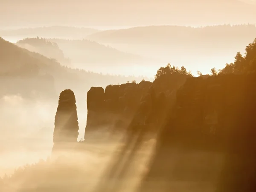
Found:
M 70 88 L 78 96 L 84 97 L 91 86 L 141 81 L 145 78 L 102 75 L 71 69 L 61 66 L 55 59 L 30 52 L 2 38 L 0 50 L 0 96 L 20 94 L 34 99 L 41 96 L 55 98 L 60 91 Z

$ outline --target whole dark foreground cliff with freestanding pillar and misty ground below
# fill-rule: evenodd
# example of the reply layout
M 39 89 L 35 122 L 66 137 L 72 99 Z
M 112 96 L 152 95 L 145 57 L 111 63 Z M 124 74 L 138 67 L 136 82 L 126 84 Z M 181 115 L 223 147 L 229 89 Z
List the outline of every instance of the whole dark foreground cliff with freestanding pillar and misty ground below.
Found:
M 193 77 L 185 67 L 167 64 L 157 70 L 154 82 L 91 87 L 83 142 L 76 141 L 80 128 L 76 94 L 61 91 L 56 99 L 53 154 L 58 156 L 62 147 L 68 153 L 16 170 L 0 179 L 0 189 L 119 192 L 134 189 L 136 177 L 135 189 L 140 192 L 255 191 L 256 39 L 245 52 L 207 76 Z M 100 160 L 90 162 L 93 132 L 102 132 L 93 146 L 104 143 L 95 154 L 106 153 L 115 133 L 123 133 L 123 145 L 111 154 L 113 161 L 97 156 Z M 148 155 L 143 149 L 152 137 L 157 143 L 153 155 Z M 146 157 L 150 160 L 143 171 L 140 163 Z M 141 177 L 133 174 L 138 169 Z

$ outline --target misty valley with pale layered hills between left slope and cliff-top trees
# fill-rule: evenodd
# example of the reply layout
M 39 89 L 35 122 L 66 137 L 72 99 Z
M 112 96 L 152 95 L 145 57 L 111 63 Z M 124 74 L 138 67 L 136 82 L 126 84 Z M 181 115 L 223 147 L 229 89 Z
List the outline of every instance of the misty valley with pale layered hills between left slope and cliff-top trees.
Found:
M 95 31 L 72 27 L 59 32 L 62 35 L 52 33 L 54 29 L 58 31 L 63 27 L 0 32 L 7 41 L 55 58 L 69 67 L 104 74 L 147 76 L 151 80 L 155 71 L 169 62 L 186 66 L 194 75 L 197 70 L 207 74 L 213 67 L 222 68 L 233 61 L 234 52 L 244 53 L 244 47 L 256 33 L 256 26 L 250 24 L 199 28 L 142 26 Z M 73 38 L 70 31 L 74 31 Z M 26 32 L 28 36 L 23 35 Z

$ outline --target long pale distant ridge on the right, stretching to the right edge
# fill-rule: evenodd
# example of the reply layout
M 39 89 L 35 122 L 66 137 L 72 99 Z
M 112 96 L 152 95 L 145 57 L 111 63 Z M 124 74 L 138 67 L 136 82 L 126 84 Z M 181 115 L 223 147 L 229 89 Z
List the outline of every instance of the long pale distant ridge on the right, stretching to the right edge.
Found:
M 103 43 L 118 44 L 206 44 L 247 41 L 256 34 L 255 25 L 218 25 L 205 27 L 190 26 L 140 26 L 128 29 L 116 29 L 96 32 L 87 38 Z M 206 42 L 207 41 L 207 42 Z M 250 42 L 250 41 L 249 41 Z M 210 46 L 210 45 L 209 45 Z M 209 47 L 208 46 L 208 47 Z M 212 46 L 211 46 L 212 47 Z

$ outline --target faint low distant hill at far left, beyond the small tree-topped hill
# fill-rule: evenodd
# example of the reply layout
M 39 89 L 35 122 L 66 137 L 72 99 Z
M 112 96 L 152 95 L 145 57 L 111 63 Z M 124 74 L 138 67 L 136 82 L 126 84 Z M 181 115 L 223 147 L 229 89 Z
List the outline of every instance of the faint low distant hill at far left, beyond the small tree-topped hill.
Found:
M 45 37 L 45 38 L 68 38 L 68 39 L 80 39 L 86 35 L 99 32 L 97 29 L 92 28 L 78 28 L 69 26 L 49 26 L 49 27 L 37 27 L 37 28 L 23 28 L 23 29 L 6 29 L 0 30 L 0 36 L 8 37 Z

